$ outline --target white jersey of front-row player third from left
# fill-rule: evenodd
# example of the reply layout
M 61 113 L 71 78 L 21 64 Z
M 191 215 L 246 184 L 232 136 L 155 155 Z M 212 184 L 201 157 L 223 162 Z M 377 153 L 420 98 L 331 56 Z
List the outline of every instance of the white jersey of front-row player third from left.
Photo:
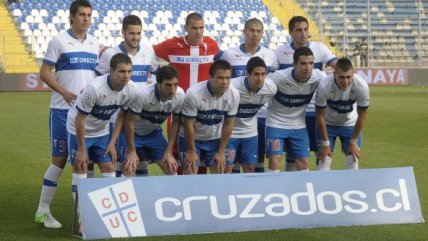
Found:
M 186 92 L 183 118 L 195 119 L 194 130 L 196 141 L 209 141 L 221 137 L 224 118 L 234 118 L 238 111 L 239 92 L 232 85 L 218 98 L 210 90 L 209 81 L 205 80 L 192 85 Z M 184 136 L 183 126 L 180 136 Z

